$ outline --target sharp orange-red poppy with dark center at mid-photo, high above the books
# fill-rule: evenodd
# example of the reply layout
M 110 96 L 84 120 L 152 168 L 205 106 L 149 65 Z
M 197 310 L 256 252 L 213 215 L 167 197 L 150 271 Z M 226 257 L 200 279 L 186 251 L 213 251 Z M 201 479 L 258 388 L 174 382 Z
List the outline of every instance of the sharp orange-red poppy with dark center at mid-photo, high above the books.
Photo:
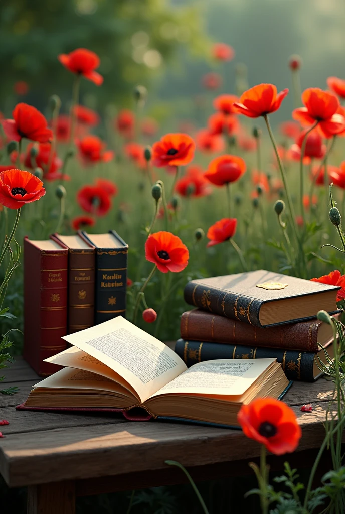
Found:
M 152 145 L 152 163 L 158 168 L 184 166 L 194 157 L 195 142 L 187 134 L 166 134 Z

